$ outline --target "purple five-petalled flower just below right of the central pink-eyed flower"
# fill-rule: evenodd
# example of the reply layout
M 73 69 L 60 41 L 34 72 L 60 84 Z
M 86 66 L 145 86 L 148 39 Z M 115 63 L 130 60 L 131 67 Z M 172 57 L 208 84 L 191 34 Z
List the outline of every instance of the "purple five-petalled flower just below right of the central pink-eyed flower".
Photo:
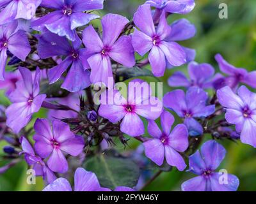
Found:
M 171 128 L 174 117 L 171 113 L 164 111 L 161 114 L 161 131 L 154 120 L 148 121 L 148 133 L 154 139 L 144 142 L 145 154 L 154 163 L 161 166 L 164 156 L 170 166 L 176 166 L 178 170 L 183 171 L 186 163 L 179 152 L 188 149 L 188 129 L 184 124 L 179 124 Z

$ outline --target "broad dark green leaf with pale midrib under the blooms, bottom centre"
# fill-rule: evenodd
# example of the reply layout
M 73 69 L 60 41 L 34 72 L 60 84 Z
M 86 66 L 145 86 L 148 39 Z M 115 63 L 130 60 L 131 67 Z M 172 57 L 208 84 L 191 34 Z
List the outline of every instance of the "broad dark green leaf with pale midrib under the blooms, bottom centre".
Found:
M 134 187 L 140 177 L 140 168 L 132 159 L 98 154 L 88 157 L 84 163 L 87 171 L 93 171 L 102 187 Z

